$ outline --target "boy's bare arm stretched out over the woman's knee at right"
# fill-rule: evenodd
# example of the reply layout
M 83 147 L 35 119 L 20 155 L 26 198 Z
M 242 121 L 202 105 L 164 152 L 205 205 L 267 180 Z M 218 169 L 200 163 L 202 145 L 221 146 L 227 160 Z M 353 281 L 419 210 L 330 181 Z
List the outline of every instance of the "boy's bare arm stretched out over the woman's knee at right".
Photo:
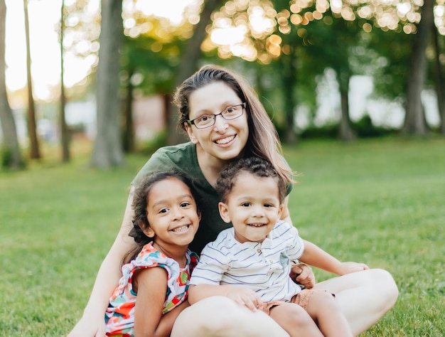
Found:
M 357 262 L 340 262 L 332 255 L 328 254 L 312 242 L 304 240 L 304 252 L 299 258 L 301 262 L 310 264 L 326 272 L 332 272 L 338 275 L 349 274 L 351 272 L 361 272 L 369 269 L 366 264 Z

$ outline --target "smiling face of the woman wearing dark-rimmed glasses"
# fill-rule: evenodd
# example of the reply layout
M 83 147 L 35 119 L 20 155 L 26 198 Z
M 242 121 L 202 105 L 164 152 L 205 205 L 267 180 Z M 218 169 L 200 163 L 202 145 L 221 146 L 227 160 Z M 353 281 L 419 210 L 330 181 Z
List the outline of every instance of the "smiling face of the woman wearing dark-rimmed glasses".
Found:
M 190 114 L 195 119 L 203 114 L 219 114 L 227 107 L 243 102 L 225 82 L 213 82 L 192 92 L 188 100 Z M 232 120 L 216 117 L 215 124 L 206 129 L 197 129 L 187 124 L 186 131 L 191 141 L 199 144 L 210 156 L 220 160 L 231 160 L 242 154 L 249 137 L 247 112 Z

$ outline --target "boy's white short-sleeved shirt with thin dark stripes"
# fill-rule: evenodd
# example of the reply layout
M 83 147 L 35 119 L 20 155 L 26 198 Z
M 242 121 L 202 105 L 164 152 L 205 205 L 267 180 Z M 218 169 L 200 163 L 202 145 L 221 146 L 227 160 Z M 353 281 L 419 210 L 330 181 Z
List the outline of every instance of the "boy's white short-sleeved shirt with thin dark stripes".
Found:
M 303 252 L 298 230 L 282 220 L 263 242 L 240 243 L 228 228 L 205 246 L 190 284 L 232 284 L 256 291 L 263 301 L 289 301 L 301 291 L 289 277 L 290 262 Z

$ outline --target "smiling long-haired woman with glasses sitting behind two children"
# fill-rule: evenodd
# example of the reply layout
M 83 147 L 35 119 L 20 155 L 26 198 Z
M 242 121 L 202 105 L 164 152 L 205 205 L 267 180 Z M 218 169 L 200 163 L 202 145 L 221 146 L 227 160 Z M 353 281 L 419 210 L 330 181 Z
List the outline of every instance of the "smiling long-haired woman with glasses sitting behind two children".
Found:
M 159 149 L 134 178 L 122 227 L 102 262 L 82 319 L 70 337 L 104 335 L 104 311 L 122 276 L 119 264 L 134 245 L 128 235 L 132 228 L 133 186 L 147 173 L 178 169 L 195 181 L 203 199 L 200 228 L 190 245 L 195 252 L 199 253 L 206 243 L 215 240 L 218 233 L 227 228 L 218 213 L 219 198 L 213 186 L 220 170 L 243 156 L 266 159 L 289 183 L 282 219 L 291 223 L 287 208 L 291 170 L 282 156 L 274 125 L 247 82 L 224 68 L 205 66 L 178 87 L 174 103 L 181 114 L 179 124 L 191 141 Z M 311 284 L 312 274 L 307 267 L 296 269 L 299 271 L 299 281 Z M 382 269 L 346 274 L 315 287 L 336 294 L 338 305 L 355 335 L 368 329 L 391 309 L 398 295 L 391 275 Z M 197 336 L 198 331 L 206 331 L 206 336 L 287 336 L 269 316 L 259 311 L 253 314 L 223 296 L 210 297 L 184 310 L 173 326 L 172 336 L 176 333 Z

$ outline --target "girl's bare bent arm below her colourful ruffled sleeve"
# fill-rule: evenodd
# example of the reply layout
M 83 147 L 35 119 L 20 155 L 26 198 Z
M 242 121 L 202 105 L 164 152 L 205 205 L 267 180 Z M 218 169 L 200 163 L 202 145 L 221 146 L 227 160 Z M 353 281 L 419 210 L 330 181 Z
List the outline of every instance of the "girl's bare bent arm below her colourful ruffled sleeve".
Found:
M 167 273 L 161 267 L 139 270 L 134 276 L 134 282 L 137 284 L 134 336 L 170 336 L 176 317 L 189 306 L 188 301 L 162 315 L 167 292 Z

